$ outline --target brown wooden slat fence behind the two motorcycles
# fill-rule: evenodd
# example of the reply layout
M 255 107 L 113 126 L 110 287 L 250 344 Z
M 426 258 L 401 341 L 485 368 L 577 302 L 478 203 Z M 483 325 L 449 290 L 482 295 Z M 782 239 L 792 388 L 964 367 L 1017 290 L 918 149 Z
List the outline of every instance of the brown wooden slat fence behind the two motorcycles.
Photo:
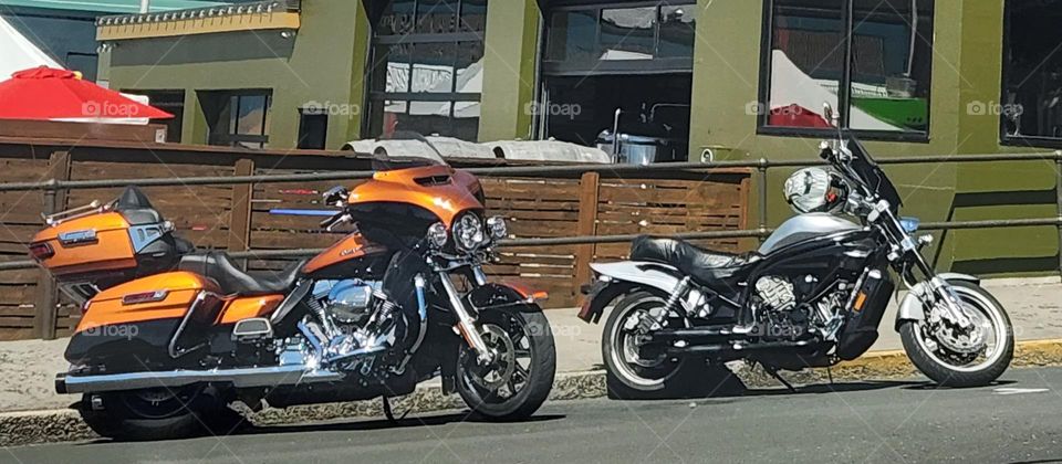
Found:
M 32 145 L 0 139 L 0 182 L 56 179 L 188 178 L 329 170 L 368 170 L 348 152 L 243 151 L 175 145 L 124 146 L 93 143 Z M 520 164 L 527 165 L 525 162 Z M 506 166 L 497 160 L 458 167 Z M 656 171 L 652 177 L 535 175 L 481 177 L 490 214 L 509 220 L 512 238 L 564 238 L 631 233 L 670 234 L 739 230 L 748 222 L 750 175 Z M 320 192 L 337 183 L 262 182 L 235 186 L 144 188 L 178 233 L 199 247 L 284 250 L 324 247 L 343 233 L 317 228 L 321 218 L 273 214 L 274 209 L 321 209 Z M 25 243 L 41 226 L 46 207 L 62 209 L 107 201 L 119 188 L 79 189 L 49 199 L 38 191 L 0 192 L 0 261 L 27 259 Z M 45 204 L 45 202 L 51 203 Z M 704 242 L 727 250 L 739 240 Z M 489 266 L 497 278 L 519 278 L 550 292 L 549 307 L 571 307 L 590 278 L 589 263 L 625 257 L 627 244 L 507 246 Z M 275 270 L 288 261 L 250 259 L 251 270 Z M 63 298 L 44 298 L 51 282 L 40 270 L 0 271 L 0 340 L 69 335 L 79 309 Z

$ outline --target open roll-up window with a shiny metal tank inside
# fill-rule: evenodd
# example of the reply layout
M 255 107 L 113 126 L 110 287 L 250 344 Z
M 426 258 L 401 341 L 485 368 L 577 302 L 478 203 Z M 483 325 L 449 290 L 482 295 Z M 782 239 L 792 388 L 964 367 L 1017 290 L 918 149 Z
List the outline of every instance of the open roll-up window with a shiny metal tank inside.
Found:
M 543 11 L 541 87 L 529 107 L 535 137 L 602 147 L 620 162 L 688 160 L 702 9 L 694 0 L 586 3 L 553 0 Z

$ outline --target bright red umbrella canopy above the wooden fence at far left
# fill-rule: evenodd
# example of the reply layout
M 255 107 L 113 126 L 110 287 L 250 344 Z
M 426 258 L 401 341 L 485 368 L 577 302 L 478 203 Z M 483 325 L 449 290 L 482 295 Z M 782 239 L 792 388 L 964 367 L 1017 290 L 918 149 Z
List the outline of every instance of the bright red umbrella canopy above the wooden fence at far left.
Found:
M 164 119 L 174 115 L 103 88 L 71 71 L 19 71 L 0 82 L 0 119 Z

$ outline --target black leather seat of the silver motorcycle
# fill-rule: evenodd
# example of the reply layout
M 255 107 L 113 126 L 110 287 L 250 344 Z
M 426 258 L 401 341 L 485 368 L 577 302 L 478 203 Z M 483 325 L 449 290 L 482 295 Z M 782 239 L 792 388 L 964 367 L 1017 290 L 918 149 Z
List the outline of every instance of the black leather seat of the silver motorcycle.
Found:
M 658 239 L 642 235 L 631 244 L 632 261 L 650 261 L 670 264 L 701 285 L 726 285 L 723 280 L 751 268 L 760 261 L 757 253 L 733 254 L 704 250 L 675 239 Z

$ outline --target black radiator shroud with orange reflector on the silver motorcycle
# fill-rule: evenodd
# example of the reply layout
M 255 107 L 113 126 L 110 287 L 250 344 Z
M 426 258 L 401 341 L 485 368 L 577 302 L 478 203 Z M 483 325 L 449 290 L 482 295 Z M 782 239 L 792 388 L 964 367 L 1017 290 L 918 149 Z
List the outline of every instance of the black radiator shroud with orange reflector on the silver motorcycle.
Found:
M 863 284 L 856 289 L 848 310 L 848 320 L 837 340 L 837 357 L 844 360 L 858 358 L 877 340 L 877 327 L 888 306 L 888 297 L 895 288 L 888 272 L 870 270 Z

